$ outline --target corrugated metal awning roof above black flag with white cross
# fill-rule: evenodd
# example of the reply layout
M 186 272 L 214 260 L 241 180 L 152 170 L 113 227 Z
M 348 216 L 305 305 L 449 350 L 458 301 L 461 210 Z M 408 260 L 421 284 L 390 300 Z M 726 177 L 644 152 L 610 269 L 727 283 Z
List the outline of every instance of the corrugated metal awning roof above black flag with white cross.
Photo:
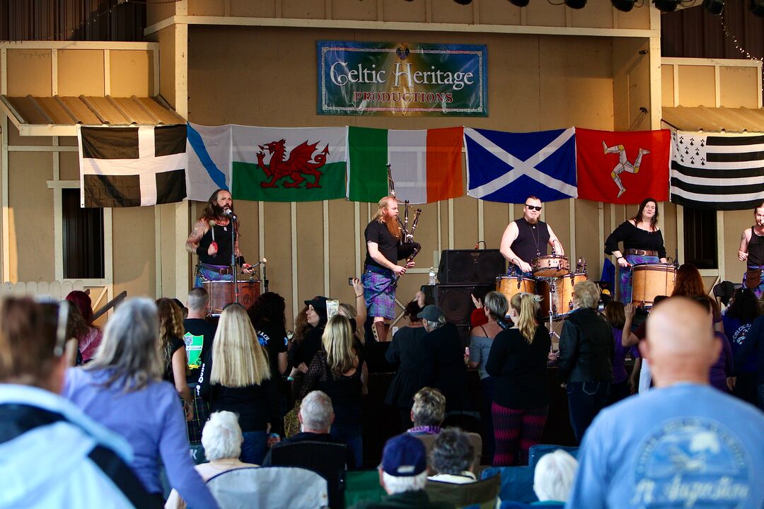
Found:
M 161 97 L 8 97 L 3 106 L 19 127 L 63 127 L 83 125 L 185 124 Z M 39 130 L 39 129 L 38 129 Z

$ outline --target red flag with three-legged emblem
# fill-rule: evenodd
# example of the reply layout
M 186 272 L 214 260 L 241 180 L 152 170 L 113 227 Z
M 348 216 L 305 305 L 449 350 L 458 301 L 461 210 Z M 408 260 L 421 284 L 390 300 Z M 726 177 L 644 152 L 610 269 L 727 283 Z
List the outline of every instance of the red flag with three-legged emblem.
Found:
M 578 198 L 636 204 L 669 199 L 668 129 L 609 131 L 576 127 Z

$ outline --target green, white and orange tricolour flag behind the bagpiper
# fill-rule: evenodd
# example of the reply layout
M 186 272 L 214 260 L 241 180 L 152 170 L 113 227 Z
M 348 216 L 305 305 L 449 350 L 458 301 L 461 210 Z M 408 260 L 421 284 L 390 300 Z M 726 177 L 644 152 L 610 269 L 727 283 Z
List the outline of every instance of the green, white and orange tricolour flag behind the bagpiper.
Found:
M 461 147 L 462 127 L 348 127 L 348 200 L 375 202 L 387 195 L 387 164 L 399 201 L 430 203 L 464 195 Z

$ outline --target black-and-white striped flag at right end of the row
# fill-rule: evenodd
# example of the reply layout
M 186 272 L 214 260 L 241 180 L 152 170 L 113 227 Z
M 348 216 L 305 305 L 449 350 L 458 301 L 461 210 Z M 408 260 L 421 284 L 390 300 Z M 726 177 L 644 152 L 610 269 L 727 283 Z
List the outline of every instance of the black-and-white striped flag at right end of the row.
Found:
M 672 133 L 671 201 L 740 211 L 764 201 L 764 136 Z

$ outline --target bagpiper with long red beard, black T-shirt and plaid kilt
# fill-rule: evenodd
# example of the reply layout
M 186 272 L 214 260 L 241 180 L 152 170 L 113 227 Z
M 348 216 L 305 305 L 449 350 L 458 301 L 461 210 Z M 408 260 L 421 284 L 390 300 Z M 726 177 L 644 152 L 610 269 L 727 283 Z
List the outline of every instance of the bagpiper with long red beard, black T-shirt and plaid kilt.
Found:
M 377 214 L 364 231 L 366 238 L 366 262 L 361 283 L 368 316 L 373 317 L 372 333 L 377 341 L 387 340 L 388 324 L 395 316 L 395 284 L 406 269 L 414 266 L 413 260 L 405 265 L 397 261 L 408 258 L 417 243 L 403 243 L 403 232 L 398 220 L 398 201 L 385 196 L 377 204 Z

